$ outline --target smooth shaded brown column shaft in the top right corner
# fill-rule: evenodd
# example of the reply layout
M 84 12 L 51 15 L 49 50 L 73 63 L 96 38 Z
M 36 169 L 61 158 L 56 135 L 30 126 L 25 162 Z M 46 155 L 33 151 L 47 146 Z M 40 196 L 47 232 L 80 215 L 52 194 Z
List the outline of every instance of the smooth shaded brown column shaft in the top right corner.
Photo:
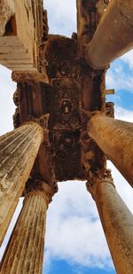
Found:
M 96 69 L 108 67 L 113 59 L 131 50 L 133 48 L 132 25 L 133 2 L 111 0 L 86 48 L 86 60 L 90 67 Z

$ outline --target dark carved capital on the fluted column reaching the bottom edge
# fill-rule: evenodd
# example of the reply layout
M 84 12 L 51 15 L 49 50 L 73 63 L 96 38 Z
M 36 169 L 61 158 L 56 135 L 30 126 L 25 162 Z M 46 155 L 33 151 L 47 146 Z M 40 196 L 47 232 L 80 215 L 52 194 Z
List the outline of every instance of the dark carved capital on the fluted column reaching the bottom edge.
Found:
M 54 193 L 52 191 L 50 184 L 46 184 L 45 182 L 41 180 L 31 179 L 31 180 L 28 180 L 26 184 L 26 188 L 24 191 L 24 195 L 25 195 L 24 202 L 27 200 L 29 196 L 42 195 L 48 207 L 49 203 L 51 203 L 51 198 L 53 194 Z

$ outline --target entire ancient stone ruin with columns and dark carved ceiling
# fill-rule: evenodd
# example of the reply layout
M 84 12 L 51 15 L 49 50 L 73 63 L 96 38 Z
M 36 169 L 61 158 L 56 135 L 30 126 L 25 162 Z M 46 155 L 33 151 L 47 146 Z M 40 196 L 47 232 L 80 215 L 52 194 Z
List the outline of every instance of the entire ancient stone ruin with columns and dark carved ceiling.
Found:
M 133 2 L 76 2 L 68 38 L 49 35 L 43 0 L 0 1 L 0 64 L 17 82 L 14 130 L 0 137 L 1 243 L 25 197 L 2 274 L 42 273 L 47 207 L 57 182 L 75 179 L 96 201 L 117 273 L 133 273 L 132 215 L 106 169 L 112 160 L 133 186 L 133 124 L 113 118 L 105 84 L 113 59 L 133 48 Z

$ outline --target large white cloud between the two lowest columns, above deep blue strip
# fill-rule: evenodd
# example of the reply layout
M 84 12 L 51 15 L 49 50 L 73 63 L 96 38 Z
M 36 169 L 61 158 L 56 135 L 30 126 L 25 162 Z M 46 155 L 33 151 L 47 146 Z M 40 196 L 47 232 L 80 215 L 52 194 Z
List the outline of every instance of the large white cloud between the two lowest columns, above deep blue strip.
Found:
M 59 183 L 48 211 L 46 249 L 51 258 L 70 263 L 111 265 L 95 202 L 83 182 Z

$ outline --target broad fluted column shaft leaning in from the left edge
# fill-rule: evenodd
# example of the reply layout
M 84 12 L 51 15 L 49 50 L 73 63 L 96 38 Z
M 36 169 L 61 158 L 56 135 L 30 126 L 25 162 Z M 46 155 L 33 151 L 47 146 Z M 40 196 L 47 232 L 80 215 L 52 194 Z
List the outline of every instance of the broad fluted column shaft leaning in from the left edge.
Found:
M 0 137 L 0 244 L 43 141 L 43 129 L 29 122 Z

